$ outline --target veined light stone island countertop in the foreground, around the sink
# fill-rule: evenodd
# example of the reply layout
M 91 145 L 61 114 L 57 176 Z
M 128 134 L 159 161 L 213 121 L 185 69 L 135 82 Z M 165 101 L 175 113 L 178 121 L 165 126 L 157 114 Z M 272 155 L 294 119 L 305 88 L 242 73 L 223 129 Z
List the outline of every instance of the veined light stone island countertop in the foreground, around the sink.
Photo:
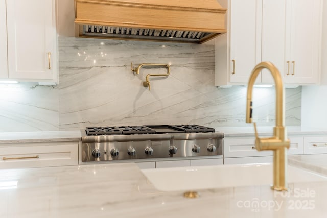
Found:
M 156 190 L 133 163 L 5 169 L 0 217 L 326 217 L 327 182 L 289 187 L 203 189 L 186 199 Z

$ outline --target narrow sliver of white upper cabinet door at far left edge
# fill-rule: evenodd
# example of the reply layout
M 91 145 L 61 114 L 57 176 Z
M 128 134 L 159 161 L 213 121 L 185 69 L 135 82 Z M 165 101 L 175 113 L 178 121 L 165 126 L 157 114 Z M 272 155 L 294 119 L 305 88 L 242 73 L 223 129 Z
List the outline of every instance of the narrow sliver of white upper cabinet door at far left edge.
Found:
M 0 0 L 0 78 L 8 78 L 6 0 Z

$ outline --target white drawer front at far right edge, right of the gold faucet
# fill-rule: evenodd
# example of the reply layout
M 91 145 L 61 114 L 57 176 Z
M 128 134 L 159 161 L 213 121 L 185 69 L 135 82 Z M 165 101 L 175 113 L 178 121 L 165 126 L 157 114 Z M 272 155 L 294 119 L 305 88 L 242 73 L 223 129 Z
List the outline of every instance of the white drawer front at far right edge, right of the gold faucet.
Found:
M 304 154 L 324 154 L 327 153 L 327 137 L 304 137 Z

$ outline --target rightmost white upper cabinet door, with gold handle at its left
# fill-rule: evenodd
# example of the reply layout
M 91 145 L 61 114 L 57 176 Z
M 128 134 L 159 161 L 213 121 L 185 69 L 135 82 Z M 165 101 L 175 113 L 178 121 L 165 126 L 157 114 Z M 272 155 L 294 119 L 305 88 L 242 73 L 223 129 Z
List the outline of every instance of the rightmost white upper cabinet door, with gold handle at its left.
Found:
M 285 72 L 290 83 L 317 83 L 320 60 L 321 0 L 288 0 Z M 288 69 L 290 68 L 290 70 Z

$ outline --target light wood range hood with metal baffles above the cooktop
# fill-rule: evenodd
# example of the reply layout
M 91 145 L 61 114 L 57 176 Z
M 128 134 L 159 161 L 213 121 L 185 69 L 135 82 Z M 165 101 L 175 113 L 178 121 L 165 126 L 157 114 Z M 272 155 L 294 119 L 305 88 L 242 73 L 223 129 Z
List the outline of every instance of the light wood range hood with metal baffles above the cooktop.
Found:
M 75 0 L 77 37 L 202 43 L 226 32 L 217 0 Z

